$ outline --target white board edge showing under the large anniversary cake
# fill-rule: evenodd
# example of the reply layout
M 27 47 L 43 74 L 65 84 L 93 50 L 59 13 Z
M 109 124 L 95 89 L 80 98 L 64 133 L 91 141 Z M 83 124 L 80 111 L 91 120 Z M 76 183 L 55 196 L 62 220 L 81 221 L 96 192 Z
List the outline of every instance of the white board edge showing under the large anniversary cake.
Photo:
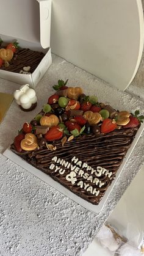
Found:
M 58 183 L 57 181 L 54 181 L 49 175 L 45 174 L 41 170 L 38 170 L 34 166 L 31 166 L 31 164 L 27 163 L 23 158 L 16 155 L 15 153 L 13 153 L 10 150 L 10 148 L 7 148 L 7 150 L 5 150 L 3 155 L 6 156 L 7 158 L 11 159 L 14 163 L 18 164 L 19 166 L 21 166 L 24 169 L 31 172 L 31 174 L 34 174 L 35 176 L 37 176 L 41 180 L 45 181 L 46 183 L 48 183 L 53 188 L 56 188 L 58 191 L 62 192 L 62 194 L 64 194 L 65 196 L 70 197 L 70 199 L 74 200 L 74 202 L 76 202 L 76 203 L 79 203 L 79 205 L 82 205 L 82 207 L 86 208 L 89 211 L 92 211 L 93 213 L 99 213 L 103 209 L 104 204 L 106 203 L 107 197 L 109 197 L 109 194 L 113 189 L 113 186 L 117 182 L 117 179 L 120 176 L 124 165 L 128 161 L 128 158 L 131 155 L 132 150 L 134 149 L 135 145 L 137 144 L 137 141 L 139 140 L 139 137 L 142 134 L 143 130 L 144 130 L 144 123 L 140 126 L 139 130 L 137 131 L 137 134 L 134 138 L 134 141 L 132 142 L 131 147 L 129 148 L 128 152 L 126 153 L 126 156 L 123 159 L 123 163 L 121 164 L 120 168 L 117 171 L 115 179 L 112 181 L 112 184 L 107 189 L 107 191 L 104 194 L 104 197 L 101 200 L 101 202 L 99 203 L 99 205 L 93 205 L 92 203 L 87 202 L 86 200 L 82 199 L 81 197 L 76 196 L 76 194 L 69 191 L 64 186 L 60 185 L 60 183 Z

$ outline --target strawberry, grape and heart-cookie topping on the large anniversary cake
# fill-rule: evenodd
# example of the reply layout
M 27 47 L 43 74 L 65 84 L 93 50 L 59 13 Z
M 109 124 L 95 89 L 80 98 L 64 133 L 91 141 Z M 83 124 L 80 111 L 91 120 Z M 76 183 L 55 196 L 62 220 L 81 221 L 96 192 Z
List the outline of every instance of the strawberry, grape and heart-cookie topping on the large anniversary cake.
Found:
M 59 80 L 53 88 L 56 92 L 48 98 L 31 123 L 24 123 L 21 133 L 15 137 L 16 151 L 31 151 L 40 147 L 56 150 L 51 143 L 61 140 L 62 146 L 74 137 L 104 136 L 116 129 L 135 128 L 143 122 L 139 111 L 117 111 L 98 102 L 95 95 L 85 95 L 81 87 L 68 87 Z

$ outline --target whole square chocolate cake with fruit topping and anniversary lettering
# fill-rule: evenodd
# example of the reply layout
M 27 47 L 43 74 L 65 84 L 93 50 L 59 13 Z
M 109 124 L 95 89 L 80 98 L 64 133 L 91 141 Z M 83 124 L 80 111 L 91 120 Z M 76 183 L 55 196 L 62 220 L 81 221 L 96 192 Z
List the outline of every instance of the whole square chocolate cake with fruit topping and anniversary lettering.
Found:
M 59 80 L 48 104 L 24 123 L 11 150 L 71 192 L 98 205 L 143 116 L 117 111 Z

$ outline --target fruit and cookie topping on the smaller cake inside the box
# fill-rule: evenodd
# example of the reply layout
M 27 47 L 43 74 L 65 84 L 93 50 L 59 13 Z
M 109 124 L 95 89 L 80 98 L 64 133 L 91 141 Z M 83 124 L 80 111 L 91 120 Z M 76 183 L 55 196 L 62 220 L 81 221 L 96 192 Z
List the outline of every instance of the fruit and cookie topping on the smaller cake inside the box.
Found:
M 0 45 L 2 40 L 0 38 Z M 9 65 L 9 61 L 13 58 L 13 54 L 16 53 L 16 50 L 19 48 L 18 42 L 9 43 L 4 48 L 0 49 L 0 68 L 2 65 Z

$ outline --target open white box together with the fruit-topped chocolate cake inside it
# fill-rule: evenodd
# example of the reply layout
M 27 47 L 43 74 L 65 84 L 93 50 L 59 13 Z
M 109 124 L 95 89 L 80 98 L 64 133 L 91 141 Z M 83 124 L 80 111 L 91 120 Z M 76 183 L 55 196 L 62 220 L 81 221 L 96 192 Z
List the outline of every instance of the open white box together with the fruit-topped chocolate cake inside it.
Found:
M 5 13 L 6 21 L 0 22 L 0 78 L 34 88 L 52 62 L 51 0 L 13 0 L 9 6 L 4 1 L 1 21 Z

